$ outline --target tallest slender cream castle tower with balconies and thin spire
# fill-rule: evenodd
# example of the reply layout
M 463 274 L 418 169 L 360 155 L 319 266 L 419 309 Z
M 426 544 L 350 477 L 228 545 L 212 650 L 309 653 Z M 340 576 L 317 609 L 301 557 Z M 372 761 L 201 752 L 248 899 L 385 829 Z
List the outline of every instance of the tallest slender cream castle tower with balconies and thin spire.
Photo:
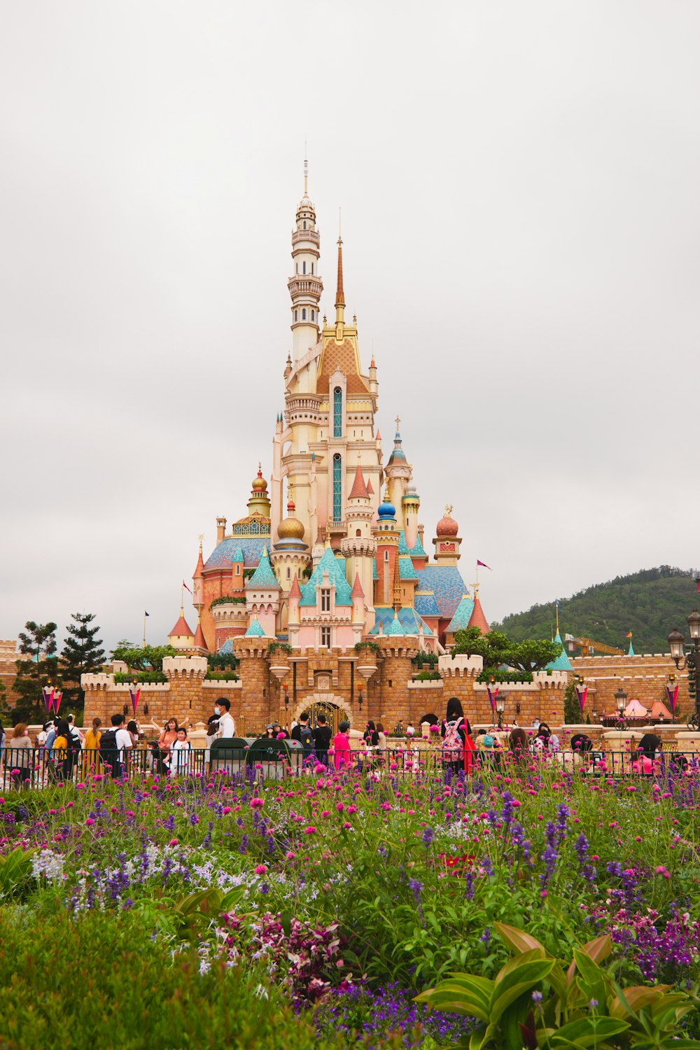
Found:
M 287 282 L 292 298 L 292 358 L 302 358 L 318 342 L 318 304 L 323 281 L 318 272 L 320 236 L 316 229 L 316 209 L 309 198 L 309 164 L 304 160 L 304 192 L 297 208 L 292 232 L 294 274 Z

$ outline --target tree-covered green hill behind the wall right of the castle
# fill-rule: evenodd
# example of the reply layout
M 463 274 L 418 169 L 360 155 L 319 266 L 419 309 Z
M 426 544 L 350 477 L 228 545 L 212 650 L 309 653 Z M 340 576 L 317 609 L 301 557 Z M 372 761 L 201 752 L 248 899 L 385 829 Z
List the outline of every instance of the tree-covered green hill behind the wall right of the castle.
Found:
M 561 598 L 559 631 L 575 637 L 589 637 L 627 651 L 632 643 L 637 653 L 669 651 L 666 637 L 677 627 L 687 637 L 685 617 L 700 605 L 693 570 L 661 565 L 642 569 L 629 576 L 617 576 L 606 584 Z M 554 601 L 533 605 L 527 612 L 506 616 L 492 624 L 515 642 L 524 638 L 549 638 L 554 630 Z

